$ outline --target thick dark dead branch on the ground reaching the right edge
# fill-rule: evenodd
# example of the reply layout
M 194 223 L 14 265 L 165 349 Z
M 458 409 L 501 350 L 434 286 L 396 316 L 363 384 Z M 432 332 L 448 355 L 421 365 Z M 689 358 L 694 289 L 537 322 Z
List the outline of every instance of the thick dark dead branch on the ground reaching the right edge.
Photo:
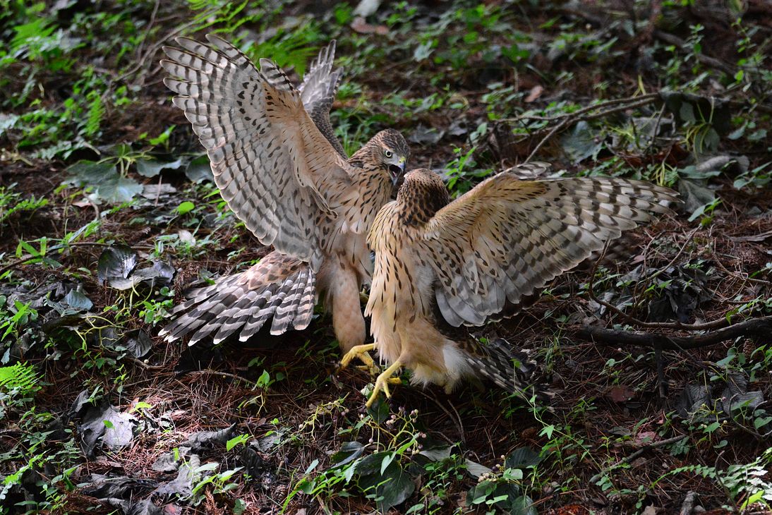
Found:
M 710 345 L 737 337 L 772 337 L 772 316 L 745 320 L 740 324 L 724 327 L 720 330 L 693 336 L 669 336 L 667 334 L 629 333 L 623 330 L 604 329 L 603 327 L 584 326 L 576 332 L 577 337 L 604 345 L 634 345 L 636 347 L 656 348 L 668 351 L 685 351 Z

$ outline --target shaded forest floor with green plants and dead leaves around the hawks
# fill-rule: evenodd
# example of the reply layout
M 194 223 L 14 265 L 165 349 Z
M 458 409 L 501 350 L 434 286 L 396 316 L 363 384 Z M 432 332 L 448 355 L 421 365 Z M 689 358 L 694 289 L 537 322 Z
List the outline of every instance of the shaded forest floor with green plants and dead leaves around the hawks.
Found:
M 766 2 L 28 3 L 0 15 L 0 513 L 770 509 Z M 161 46 L 208 32 L 294 79 L 337 39 L 346 151 L 393 127 L 453 195 L 529 158 L 679 191 L 483 330 L 549 407 L 406 373 L 366 410 L 322 310 L 246 344 L 157 336 L 268 251 L 161 82 Z

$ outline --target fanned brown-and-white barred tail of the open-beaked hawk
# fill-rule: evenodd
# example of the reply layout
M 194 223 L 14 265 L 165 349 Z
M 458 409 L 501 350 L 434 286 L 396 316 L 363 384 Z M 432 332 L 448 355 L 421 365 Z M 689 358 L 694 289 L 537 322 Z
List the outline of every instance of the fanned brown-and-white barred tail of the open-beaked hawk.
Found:
M 271 252 L 245 272 L 193 290 L 160 335 L 171 342 L 190 334 L 193 345 L 206 337 L 218 344 L 238 332 L 246 341 L 271 319 L 271 334 L 303 330 L 316 300 L 316 275 L 308 263 Z

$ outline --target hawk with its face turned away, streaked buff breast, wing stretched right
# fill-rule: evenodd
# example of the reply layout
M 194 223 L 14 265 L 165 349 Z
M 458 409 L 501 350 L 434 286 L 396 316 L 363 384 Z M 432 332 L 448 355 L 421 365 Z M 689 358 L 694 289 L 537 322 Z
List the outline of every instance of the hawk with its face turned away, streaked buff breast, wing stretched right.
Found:
M 527 168 L 548 166 L 523 164 L 453 202 L 434 172 L 405 174 L 368 236 L 375 268 L 365 314 L 374 344 L 355 347 L 343 360 L 377 349 L 389 364 L 367 406 L 378 391 L 390 396 L 401 367 L 411 369 L 414 383 L 446 390 L 479 375 L 519 390 L 511 347 L 481 344 L 460 326 L 506 315 L 622 231 L 669 212 L 662 201 L 675 201 L 674 191 L 644 181 L 519 178 Z

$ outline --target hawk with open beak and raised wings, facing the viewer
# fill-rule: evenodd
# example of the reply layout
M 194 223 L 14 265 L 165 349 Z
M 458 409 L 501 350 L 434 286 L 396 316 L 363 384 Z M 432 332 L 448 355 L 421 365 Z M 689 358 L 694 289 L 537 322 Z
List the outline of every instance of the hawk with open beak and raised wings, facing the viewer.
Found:
M 376 134 L 350 158 L 334 136 L 330 107 L 340 69 L 334 42 L 300 88 L 269 59 L 257 67 L 217 36 L 164 47 L 164 79 L 178 93 L 208 152 L 222 198 L 263 245 L 259 263 L 192 292 L 161 334 L 190 344 L 238 331 L 246 341 L 268 320 L 271 334 L 308 326 L 320 293 L 345 351 L 365 338 L 360 288 L 372 273 L 367 230 L 391 197 L 409 150 L 396 130 Z

